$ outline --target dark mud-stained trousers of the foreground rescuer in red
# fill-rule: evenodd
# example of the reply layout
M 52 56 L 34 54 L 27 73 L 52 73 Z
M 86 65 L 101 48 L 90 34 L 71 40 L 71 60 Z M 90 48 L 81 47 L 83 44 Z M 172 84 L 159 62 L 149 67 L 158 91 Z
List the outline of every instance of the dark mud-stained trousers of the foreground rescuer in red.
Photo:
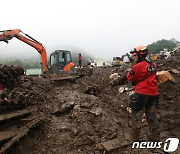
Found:
M 139 135 L 142 127 L 142 117 L 145 114 L 151 133 L 150 140 L 160 141 L 160 128 L 156 115 L 156 104 L 158 101 L 158 96 L 139 95 L 139 97 L 141 103 L 140 111 L 132 110 L 131 112 L 133 140 L 139 140 Z

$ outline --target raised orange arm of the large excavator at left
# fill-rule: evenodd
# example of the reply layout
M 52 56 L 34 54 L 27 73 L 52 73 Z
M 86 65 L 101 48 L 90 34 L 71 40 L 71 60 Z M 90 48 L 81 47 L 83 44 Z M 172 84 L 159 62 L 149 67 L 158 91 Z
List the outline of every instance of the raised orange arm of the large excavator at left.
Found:
M 48 65 L 47 65 L 48 62 L 47 62 L 46 49 L 43 46 L 43 44 L 41 44 L 40 42 L 38 42 L 28 34 L 23 33 L 20 29 L 0 31 L 0 41 L 4 41 L 8 43 L 8 41 L 11 40 L 13 37 L 16 37 L 22 42 L 32 46 L 40 53 L 43 73 L 46 73 L 48 71 Z

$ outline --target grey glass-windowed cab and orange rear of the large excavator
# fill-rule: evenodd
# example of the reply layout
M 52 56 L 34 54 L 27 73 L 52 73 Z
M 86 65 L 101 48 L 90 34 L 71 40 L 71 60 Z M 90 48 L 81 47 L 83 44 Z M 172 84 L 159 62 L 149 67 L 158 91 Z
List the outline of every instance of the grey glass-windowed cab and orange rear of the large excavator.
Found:
M 69 70 L 66 70 L 67 67 Z M 74 72 L 74 66 L 72 64 L 71 52 L 67 50 L 56 50 L 50 54 L 49 59 L 49 72 L 62 74 L 66 72 Z

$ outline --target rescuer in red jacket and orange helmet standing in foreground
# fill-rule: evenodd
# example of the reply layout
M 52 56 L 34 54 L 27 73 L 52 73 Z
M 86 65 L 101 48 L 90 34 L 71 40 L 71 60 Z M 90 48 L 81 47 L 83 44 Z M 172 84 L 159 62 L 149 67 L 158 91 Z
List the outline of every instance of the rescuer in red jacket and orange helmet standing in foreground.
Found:
M 158 88 L 156 80 L 156 65 L 147 60 L 148 49 L 146 46 L 138 46 L 130 52 L 134 57 L 134 65 L 127 72 L 126 77 L 135 86 L 135 93 L 130 96 L 129 107 L 132 109 L 132 137 L 139 140 L 142 127 L 141 119 L 146 115 L 151 132 L 151 141 L 160 141 L 159 122 L 156 115 L 158 101 Z

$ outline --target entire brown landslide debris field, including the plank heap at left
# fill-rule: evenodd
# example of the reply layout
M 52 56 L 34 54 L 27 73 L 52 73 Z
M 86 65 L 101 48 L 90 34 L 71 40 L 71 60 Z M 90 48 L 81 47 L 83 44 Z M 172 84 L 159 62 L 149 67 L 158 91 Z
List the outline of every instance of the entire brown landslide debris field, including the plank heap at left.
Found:
M 162 73 L 165 79 L 159 75 L 163 84 L 158 85 L 157 112 L 162 141 L 180 136 L 179 56 L 176 52 L 167 60 L 156 61 L 158 71 L 171 72 L 171 76 Z M 130 65 L 97 67 L 91 76 L 74 83 L 52 84 L 41 77 L 15 77 L 18 84 L 5 87 L 0 94 L 0 153 L 143 153 L 144 149 L 131 148 L 128 99 L 134 91 L 126 91 L 129 84 L 125 77 Z M 112 72 L 120 76 L 113 85 L 109 84 Z M 42 127 L 31 129 L 41 119 L 45 120 Z M 142 124 L 146 126 L 145 118 Z M 142 140 L 148 140 L 147 132 L 148 127 L 142 127 Z M 31 148 L 27 147 L 30 144 Z M 150 153 L 146 150 L 144 153 Z

